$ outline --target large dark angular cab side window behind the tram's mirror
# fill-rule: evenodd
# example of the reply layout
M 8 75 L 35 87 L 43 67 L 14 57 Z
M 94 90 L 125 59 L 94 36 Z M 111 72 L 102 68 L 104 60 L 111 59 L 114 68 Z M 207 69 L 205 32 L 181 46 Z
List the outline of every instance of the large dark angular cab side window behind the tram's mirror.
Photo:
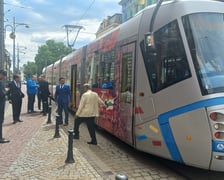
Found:
M 156 55 L 145 62 L 153 93 L 191 76 L 176 20 L 156 31 L 154 40 Z

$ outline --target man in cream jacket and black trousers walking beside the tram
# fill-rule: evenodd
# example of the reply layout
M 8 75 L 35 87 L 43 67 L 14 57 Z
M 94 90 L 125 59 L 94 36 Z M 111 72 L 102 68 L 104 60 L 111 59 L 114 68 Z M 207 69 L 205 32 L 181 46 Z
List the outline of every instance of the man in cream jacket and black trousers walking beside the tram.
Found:
M 85 122 L 91 141 L 88 144 L 97 145 L 96 133 L 95 133 L 95 117 L 99 116 L 99 105 L 105 105 L 100 99 L 97 93 L 90 89 L 90 84 L 84 84 L 85 93 L 82 95 L 78 110 L 76 112 L 76 118 L 74 123 L 74 139 L 79 139 L 79 125 Z

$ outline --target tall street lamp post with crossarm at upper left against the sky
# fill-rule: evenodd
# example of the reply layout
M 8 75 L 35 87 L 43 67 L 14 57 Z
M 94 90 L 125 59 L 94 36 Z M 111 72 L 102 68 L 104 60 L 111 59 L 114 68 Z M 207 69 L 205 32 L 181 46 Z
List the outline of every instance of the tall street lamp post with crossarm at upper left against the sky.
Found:
M 13 73 L 15 73 L 15 69 L 16 69 L 16 28 L 18 26 L 24 26 L 25 28 L 29 28 L 28 24 L 25 23 L 16 23 L 15 22 L 15 17 L 13 17 L 13 25 L 7 25 L 10 26 L 12 28 L 12 32 L 10 33 L 10 38 L 13 40 L 13 57 L 12 57 L 12 71 Z

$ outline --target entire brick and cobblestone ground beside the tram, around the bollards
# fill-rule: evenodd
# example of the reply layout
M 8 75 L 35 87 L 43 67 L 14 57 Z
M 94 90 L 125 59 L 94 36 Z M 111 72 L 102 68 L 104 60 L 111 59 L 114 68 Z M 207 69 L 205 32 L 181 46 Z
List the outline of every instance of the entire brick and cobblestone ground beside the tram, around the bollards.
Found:
M 23 105 L 26 107 L 26 102 Z M 72 116 L 69 126 L 60 127 L 61 137 L 53 138 L 54 113 L 52 124 L 46 124 L 47 116 L 40 113 L 24 113 L 24 122 L 12 125 L 10 109 L 8 105 L 3 126 L 4 136 L 10 143 L 0 144 L 1 180 L 108 180 L 115 179 L 118 173 L 126 174 L 129 180 L 182 179 L 154 160 L 139 158 L 132 148 L 121 148 L 116 139 L 110 140 L 100 131 L 98 145 L 88 145 L 89 134 L 84 124 L 80 127 L 80 140 L 73 141 L 75 162 L 67 164 L 66 133 L 73 128 Z

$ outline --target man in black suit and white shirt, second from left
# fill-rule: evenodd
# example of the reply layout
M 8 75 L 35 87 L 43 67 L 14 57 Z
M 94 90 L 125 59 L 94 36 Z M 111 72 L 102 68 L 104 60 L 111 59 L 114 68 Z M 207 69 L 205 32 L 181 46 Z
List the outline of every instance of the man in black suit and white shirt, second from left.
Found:
M 24 97 L 21 91 L 21 82 L 19 75 L 13 75 L 13 81 L 9 83 L 8 99 L 12 104 L 13 124 L 22 122 L 20 119 L 22 98 Z

